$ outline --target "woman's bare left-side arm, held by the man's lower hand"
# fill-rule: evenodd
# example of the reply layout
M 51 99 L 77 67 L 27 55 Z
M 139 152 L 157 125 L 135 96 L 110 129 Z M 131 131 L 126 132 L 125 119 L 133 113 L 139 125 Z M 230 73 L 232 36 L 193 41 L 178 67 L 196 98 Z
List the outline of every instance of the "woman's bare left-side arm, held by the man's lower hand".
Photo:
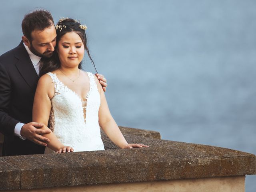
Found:
M 51 110 L 51 100 L 54 96 L 54 84 L 52 79 L 47 74 L 43 75 L 37 84 L 36 94 L 34 97 L 33 104 L 33 116 L 32 120 L 34 122 L 44 123 L 41 128 L 43 130 L 49 130 L 46 126 L 48 124 L 50 110 Z M 48 138 L 50 142 L 47 146 L 54 150 L 59 151 L 64 147 L 64 145 L 58 140 L 58 138 L 51 131 L 49 134 L 44 134 L 44 137 Z

